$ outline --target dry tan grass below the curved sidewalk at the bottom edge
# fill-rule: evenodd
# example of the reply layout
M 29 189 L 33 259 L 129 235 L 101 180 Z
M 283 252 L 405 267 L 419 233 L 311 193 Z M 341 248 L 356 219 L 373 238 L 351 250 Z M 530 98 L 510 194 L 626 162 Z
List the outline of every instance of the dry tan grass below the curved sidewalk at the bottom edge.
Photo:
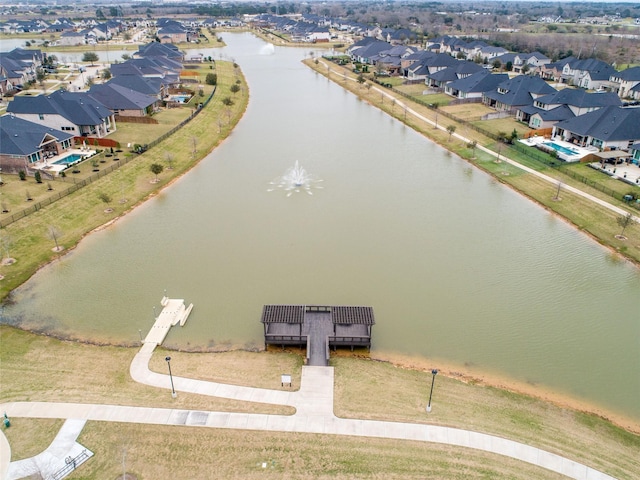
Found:
M 79 441 L 96 455 L 70 480 L 117 478 L 125 450 L 139 479 L 564 478 L 475 450 L 376 438 L 90 422 Z

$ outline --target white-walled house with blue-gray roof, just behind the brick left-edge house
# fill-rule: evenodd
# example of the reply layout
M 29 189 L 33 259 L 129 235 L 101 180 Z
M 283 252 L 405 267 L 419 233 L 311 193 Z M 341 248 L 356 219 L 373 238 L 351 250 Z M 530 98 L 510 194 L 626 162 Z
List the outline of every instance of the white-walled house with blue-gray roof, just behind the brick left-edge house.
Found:
M 58 90 L 51 95 L 15 97 L 7 112 L 79 137 L 102 138 L 116 129 L 113 112 L 86 92 Z

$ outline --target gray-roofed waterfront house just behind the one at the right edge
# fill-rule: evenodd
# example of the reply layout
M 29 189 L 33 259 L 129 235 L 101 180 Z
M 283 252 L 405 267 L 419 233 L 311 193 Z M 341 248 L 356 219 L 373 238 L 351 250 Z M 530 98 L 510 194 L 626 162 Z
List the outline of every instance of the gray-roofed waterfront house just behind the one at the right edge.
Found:
M 533 105 L 521 108 L 516 119 L 531 128 L 551 128 L 555 122 L 593 112 L 609 105 L 622 106 L 622 101 L 613 92 L 589 93 L 581 88 L 564 88 L 543 95 Z

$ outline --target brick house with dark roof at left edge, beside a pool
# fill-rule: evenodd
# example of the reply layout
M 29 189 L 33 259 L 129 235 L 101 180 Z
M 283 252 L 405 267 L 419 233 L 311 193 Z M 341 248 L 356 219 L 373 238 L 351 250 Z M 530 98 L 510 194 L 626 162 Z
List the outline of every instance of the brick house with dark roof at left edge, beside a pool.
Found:
M 73 148 L 73 133 L 29 122 L 15 115 L 0 117 L 0 168 L 27 170 L 31 165 Z

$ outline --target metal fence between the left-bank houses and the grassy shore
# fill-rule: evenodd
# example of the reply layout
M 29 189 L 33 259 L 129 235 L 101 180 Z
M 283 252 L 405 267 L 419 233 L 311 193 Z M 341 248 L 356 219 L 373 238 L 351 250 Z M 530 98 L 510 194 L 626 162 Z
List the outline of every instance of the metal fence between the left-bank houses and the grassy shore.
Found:
M 211 95 L 209 95 L 209 97 L 207 97 L 207 99 L 203 102 L 202 107 L 201 108 L 197 108 L 196 110 L 194 110 L 191 115 L 189 115 L 189 117 L 187 119 L 185 119 L 184 121 L 180 122 L 179 125 L 173 127 L 171 130 L 169 130 L 168 132 L 164 133 L 163 135 L 160 135 L 160 137 L 156 138 L 155 140 L 151 141 L 148 145 L 147 145 L 147 149 L 152 148 L 156 145 L 158 145 L 160 142 L 162 142 L 163 140 L 165 140 L 166 138 L 170 137 L 171 135 L 173 135 L 174 133 L 176 133 L 178 130 L 180 130 L 182 127 L 184 127 L 187 123 L 189 123 L 191 120 L 193 120 L 201 111 L 204 107 L 206 107 L 209 102 L 211 101 L 211 99 L 213 98 L 213 95 L 216 93 L 216 87 L 213 87 L 213 91 L 211 92 Z M 30 205 L 27 208 L 24 208 L 22 210 L 19 210 L 17 212 L 12 213 L 11 215 L 7 215 L 7 213 L 4 213 L 4 216 L 2 218 L 0 218 L 0 227 L 6 227 L 7 225 L 12 224 L 13 222 L 16 222 L 18 220 L 20 220 L 21 218 L 26 217 L 27 215 L 30 215 L 34 212 L 37 212 L 38 210 L 40 210 L 43 207 L 46 207 L 47 205 L 51 205 L 53 202 L 60 200 L 63 197 L 66 197 L 67 195 L 81 189 L 82 187 L 86 187 L 87 185 L 95 182 L 96 180 L 98 180 L 99 178 L 104 177 L 105 175 L 108 175 L 109 173 L 113 172 L 114 170 L 117 170 L 118 168 L 122 167 L 123 165 L 126 165 L 127 163 L 129 163 L 130 161 L 134 160 L 136 158 L 136 155 L 128 155 L 128 156 L 124 156 L 122 159 L 118 160 L 117 162 L 112 163 L 111 165 L 109 165 L 108 167 L 106 167 L 104 170 L 100 170 L 99 172 L 95 172 L 92 175 L 89 175 L 87 178 L 84 178 L 82 180 L 77 180 L 73 177 L 69 177 L 67 176 L 67 180 L 64 180 L 65 184 L 68 181 L 72 181 L 73 184 L 64 188 L 63 190 L 50 195 L 49 197 L 40 200 L 39 202 L 33 203 L 32 205 Z

